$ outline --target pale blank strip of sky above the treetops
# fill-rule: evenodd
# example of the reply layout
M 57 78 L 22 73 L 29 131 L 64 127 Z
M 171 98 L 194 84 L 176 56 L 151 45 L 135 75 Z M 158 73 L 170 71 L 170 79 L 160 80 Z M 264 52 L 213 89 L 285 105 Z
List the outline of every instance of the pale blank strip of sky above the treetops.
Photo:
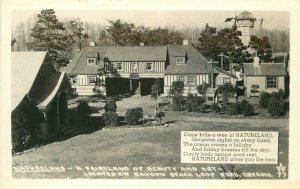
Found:
M 107 24 L 108 20 L 121 19 L 135 25 L 149 27 L 175 26 L 177 29 L 185 27 L 202 28 L 208 23 L 214 27 L 230 26 L 225 23 L 227 17 L 239 15 L 244 10 L 232 11 L 141 11 L 141 10 L 55 10 L 59 20 L 80 18 L 95 24 Z M 12 11 L 12 27 L 17 23 L 33 18 L 40 10 L 14 10 Z M 250 11 L 260 19 L 263 17 L 263 28 L 288 29 L 290 20 L 287 11 Z

